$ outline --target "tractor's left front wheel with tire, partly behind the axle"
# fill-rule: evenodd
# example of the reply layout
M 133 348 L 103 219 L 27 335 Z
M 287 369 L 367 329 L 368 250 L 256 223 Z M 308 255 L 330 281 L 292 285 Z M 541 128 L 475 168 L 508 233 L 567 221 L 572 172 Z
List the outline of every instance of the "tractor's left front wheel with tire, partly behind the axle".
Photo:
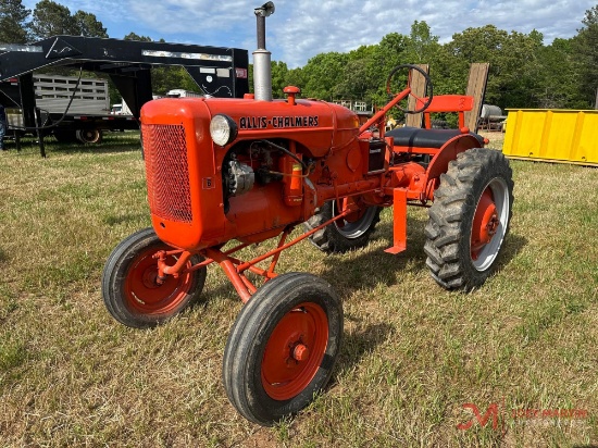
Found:
M 161 324 L 196 302 L 205 283 L 202 267 L 178 278 L 169 275 L 162 285 L 155 283 L 158 264 L 152 256 L 172 250 L 153 229 L 145 228 L 121 241 L 110 254 L 102 273 L 102 297 L 112 316 L 135 328 Z M 174 256 L 166 259 L 172 265 Z M 201 262 L 194 256 L 187 266 Z

